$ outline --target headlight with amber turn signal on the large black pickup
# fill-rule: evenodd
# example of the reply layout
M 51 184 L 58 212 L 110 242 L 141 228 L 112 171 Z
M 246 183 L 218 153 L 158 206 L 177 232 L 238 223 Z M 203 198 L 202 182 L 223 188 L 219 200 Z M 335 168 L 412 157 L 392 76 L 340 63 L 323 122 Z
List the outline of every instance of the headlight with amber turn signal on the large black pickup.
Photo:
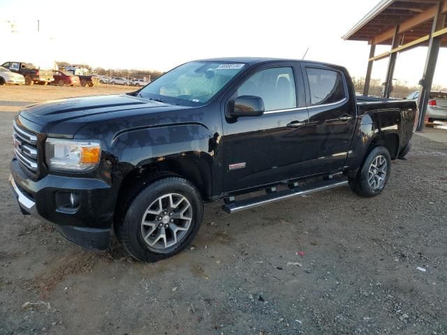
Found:
M 100 158 L 99 142 L 57 138 L 45 142 L 45 161 L 52 170 L 85 172 L 96 168 Z

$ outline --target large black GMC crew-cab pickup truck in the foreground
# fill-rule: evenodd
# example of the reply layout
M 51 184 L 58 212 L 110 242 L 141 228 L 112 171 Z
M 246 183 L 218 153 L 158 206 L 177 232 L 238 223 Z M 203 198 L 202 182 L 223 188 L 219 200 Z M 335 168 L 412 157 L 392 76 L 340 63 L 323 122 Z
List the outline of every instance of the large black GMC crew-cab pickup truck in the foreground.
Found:
M 197 234 L 203 202 L 234 213 L 347 184 L 381 193 L 418 108 L 358 99 L 340 66 L 191 61 L 131 94 L 25 107 L 10 183 L 23 214 L 67 239 L 106 248 L 113 228 L 134 258 L 160 260 Z

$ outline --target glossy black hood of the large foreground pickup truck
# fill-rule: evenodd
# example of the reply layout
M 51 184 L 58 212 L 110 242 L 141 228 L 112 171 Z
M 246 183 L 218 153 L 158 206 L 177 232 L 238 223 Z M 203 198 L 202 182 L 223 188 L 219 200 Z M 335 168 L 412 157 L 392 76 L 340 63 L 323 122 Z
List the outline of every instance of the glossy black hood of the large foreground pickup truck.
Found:
M 104 114 L 109 117 L 119 112 L 126 112 L 127 116 L 133 114 L 163 112 L 165 110 L 181 109 L 184 106 L 168 105 L 157 101 L 149 101 L 134 96 L 110 95 L 87 96 L 79 98 L 66 98 L 46 103 L 30 105 L 20 111 L 20 117 L 41 126 L 60 124 L 66 121 L 76 121 L 98 116 L 103 119 Z M 80 120 L 78 120 L 80 121 Z

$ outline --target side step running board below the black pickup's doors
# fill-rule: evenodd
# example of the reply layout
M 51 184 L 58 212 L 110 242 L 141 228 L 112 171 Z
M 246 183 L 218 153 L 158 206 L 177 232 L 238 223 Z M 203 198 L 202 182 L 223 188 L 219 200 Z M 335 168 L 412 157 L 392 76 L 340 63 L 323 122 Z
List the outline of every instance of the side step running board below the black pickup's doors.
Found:
M 329 179 L 319 181 L 318 183 L 293 188 L 291 190 L 269 192 L 264 195 L 258 195 L 254 198 L 228 202 L 222 206 L 222 209 L 227 213 L 232 214 L 236 213 L 237 211 L 244 211 L 245 209 L 263 206 L 264 204 L 272 204 L 273 202 L 279 202 L 281 200 L 299 197 L 300 195 L 306 195 L 318 191 L 325 191 L 330 188 L 344 186 L 346 184 L 348 184 L 348 181 L 346 179 Z

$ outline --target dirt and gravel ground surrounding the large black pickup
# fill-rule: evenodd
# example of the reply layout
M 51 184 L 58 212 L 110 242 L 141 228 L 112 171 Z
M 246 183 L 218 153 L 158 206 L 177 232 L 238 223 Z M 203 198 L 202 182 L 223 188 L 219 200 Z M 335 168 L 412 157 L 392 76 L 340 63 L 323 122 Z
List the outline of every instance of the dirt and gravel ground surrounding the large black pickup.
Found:
M 155 264 L 22 216 L 8 186 L 19 105 L 126 90 L 0 87 L 0 334 L 447 334 L 447 131 L 414 135 L 376 198 L 208 204 L 193 246 Z

